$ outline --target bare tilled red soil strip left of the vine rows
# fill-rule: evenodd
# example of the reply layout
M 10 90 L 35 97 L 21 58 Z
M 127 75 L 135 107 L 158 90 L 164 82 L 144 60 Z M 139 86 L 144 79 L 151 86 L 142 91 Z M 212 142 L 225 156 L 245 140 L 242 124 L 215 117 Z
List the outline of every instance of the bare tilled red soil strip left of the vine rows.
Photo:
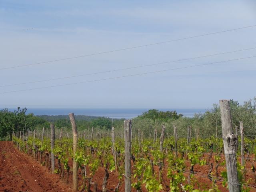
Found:
M 36 160 L 0 141 L 0 192 L 71 192 L 69 185 Z

